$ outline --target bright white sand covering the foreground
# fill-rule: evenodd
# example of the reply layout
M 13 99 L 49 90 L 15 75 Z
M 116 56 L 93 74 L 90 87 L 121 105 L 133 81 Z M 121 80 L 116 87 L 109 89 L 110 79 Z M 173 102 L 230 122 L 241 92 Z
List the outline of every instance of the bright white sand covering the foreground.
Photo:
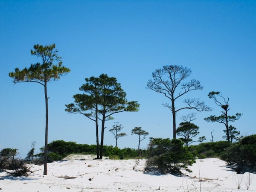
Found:
M 133 170 L 136 161 L 93 160 L 90 155 L 76 155 L 48 163 L 48 175 L 43 175 L 44 167 L 37 165 L 32 165 L 34 173 L 28 177 L 10 177 L 1 172 L 0 192 L 256 191 L 256 174 L 250 174 L 247 190 L 249 173 L 237 175 L 217 158 L 197 160 L 189 167 L 192 173 L 183 171 L 189 177 L 144 173 L 145 160 Z M 239 180 L 241 189 L 237 189 Z

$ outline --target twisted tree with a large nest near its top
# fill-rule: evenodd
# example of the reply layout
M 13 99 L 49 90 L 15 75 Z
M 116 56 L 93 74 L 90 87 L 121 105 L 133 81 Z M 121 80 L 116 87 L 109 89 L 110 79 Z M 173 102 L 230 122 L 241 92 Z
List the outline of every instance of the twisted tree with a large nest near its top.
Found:
M 228 115 L 227 113 L 230 110 L 228 105 L 229 98 L 225 99 L 220 92 L 212 91 L 208 94 L 208 96 L 210 99 L 214 100 L 215 104 L 221 107 L 223 111 L 221 111 L 222 114 L 220 116 L 211 115 L 209 117 L 204 118 L 204 120 L 206 120 L 207 122 L 218 122 L 224 124 L 226 127 L 225 133 L 227 135 L 227 141 L 230 142 L 230 131 L 228 124 L 229 122 L 234 122 L 238 120 L 242 114 L 236 113 L 236 115 L 233 116 Z M 224 103 L 220 102 L 219 99 L 222 99 Z

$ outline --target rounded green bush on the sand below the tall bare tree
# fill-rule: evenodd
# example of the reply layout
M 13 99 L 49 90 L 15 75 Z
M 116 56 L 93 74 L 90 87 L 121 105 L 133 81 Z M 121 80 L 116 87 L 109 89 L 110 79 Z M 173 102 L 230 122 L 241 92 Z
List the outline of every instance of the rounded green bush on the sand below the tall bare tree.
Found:
M 160 171 L 181 175 L 180 169 L 187 169 L 195 162 L 193 155 L 180 140 L 150 138 L 146 171 Z

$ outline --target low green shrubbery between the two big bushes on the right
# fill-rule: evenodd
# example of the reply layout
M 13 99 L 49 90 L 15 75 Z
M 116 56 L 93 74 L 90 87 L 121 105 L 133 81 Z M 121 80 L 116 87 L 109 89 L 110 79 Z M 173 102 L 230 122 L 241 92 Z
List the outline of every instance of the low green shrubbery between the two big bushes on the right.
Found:
M 189 151 L 200 159 L 209 157 L 220 158 L 225 154 L 230 145 L 231 143 L 228 141 L 200 143 L 199 145 L 190 145 Z

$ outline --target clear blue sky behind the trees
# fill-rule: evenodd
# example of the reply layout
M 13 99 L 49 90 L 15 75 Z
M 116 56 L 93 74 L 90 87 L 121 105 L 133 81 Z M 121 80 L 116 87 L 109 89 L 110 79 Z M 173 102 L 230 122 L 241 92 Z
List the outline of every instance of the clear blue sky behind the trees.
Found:
M 17 148 L 26 157 L 33 141 L 36 152 L 44 145 L 43 86 L 14 85 L 8 73 L 40 62 L 30 55 L 34 44 L 52 43 L 71 72 L 48 86 L 49 142 L 96 143 L 93 122 L 64 110 L 85 78 L 102 73 L 116 77 L 127 99 L 140 103 L 139 112 L 119 113 L 107 122 L 106 145 L 115 145 L 108 131 L 114 122 L 128 134 L 118 140 L 120 148 L 137 148 L 131 129 L 138 126 L 148 137 L 172 138 L 172 113 L 162 106 L 169 101 L 145 89 L 154 70 L 171 64 L 191 68 L 190 78 L 204 86 L 183 99 L 201 98 L 213 108 L 197 114 L 200 136 L 209 141 L 214 130 L 214 140 L 223 140 L 224 126 L 204 121 L 221 114 L 210 91 L 230 98 L 230 115 L 243 113 L 232 123 L 241 135 L 256 134 L 254 0 L 0 0 L 0 150 Z M 189 112 L 180 111 L 177 124 Z M 142 148 L 147 144 L 143 140 Z

